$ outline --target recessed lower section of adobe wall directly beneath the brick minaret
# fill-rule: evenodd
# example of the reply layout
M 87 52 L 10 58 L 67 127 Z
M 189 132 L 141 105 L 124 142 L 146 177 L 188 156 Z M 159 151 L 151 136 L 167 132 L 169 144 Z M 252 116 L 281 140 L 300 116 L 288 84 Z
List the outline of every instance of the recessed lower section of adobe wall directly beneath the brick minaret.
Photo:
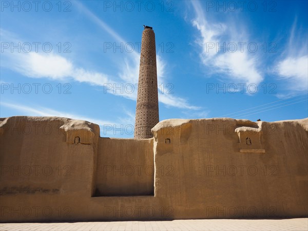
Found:
M 95 196 L 154 195 L 153 140 L 100 138 Z

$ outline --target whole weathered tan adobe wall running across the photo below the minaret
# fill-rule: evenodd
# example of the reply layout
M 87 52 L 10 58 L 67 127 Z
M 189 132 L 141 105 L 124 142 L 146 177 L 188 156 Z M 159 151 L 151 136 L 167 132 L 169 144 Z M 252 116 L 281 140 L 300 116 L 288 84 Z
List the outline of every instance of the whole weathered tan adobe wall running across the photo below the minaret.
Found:
M 1 222 L 308 216 L 308 119 L 174 119 L 152 132 L 0 119 Z

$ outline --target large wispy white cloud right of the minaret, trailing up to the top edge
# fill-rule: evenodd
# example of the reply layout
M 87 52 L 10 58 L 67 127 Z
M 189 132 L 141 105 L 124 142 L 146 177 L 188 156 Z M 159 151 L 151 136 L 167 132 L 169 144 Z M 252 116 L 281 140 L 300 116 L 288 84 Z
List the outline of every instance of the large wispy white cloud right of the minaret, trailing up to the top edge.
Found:
M 218 46 L 227 46 L 228 42 L 247 42 L 245 31 L 234 33 L 232 24 L 209 22 L 206 18 L 201 4 L 198 1 L 191 1 L 195 10 L 195 18 L 192 25 L 200 32 L 200 38 L 196 41 L 201 47 L 200 58 L 203 64 L 213 72 L 224 73 L 230 80 L 244 82 L 246 84 L 259 84 L 263 80 L 256 53 L 247 49 L 237 47 L 234 51 L 217 50 Z M 242 29 L 243 30 L 243 29 Z M 224 43 L 226 45 L 224 45 Z M 237 44 L 238 45 L 238 44 Z M 210 48 L 214 46 L 214 48 Z M 234 51 L 234 52 L 233 52 Z

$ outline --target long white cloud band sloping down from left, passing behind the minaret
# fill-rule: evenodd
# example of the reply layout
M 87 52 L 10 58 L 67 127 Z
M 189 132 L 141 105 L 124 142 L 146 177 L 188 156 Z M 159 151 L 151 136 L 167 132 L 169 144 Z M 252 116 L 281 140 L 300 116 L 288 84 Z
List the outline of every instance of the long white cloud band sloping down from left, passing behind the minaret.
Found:
M 123 82 L 115 82 L 110 76 L 103 73 L 77 68 L 64 57 L 53 53 L 10 53 L 9 58 L 12 59 L 9 62 L 11 63 L 10 68 L 31 78 L 50 78 L 62 81 L 70 78 L 74 81 L 106 87 L 106 92 L 121 95 L 127 99 L 136 100 L 137 98 L 138 85 L 132 84 L 136 83 L 132 80 L 135 76 L 134 73 L 139 73 L 139 68 L 131 69 L 127 67 L 127 73 L 129 73 L 125 77 L 127 79 Z M 128 84 L 133 86 L 133 91 L 128 88 L 125 90 L 125 86 L 128 86 Z M 117 87 L 124 88 L 124 90 L 117 90 Z M 166 106 L 193 110 L 199 109 L 199 107 L 190 105 L 187 100 L 175 97 L 173 94 L 159 94 L 159 101 Z

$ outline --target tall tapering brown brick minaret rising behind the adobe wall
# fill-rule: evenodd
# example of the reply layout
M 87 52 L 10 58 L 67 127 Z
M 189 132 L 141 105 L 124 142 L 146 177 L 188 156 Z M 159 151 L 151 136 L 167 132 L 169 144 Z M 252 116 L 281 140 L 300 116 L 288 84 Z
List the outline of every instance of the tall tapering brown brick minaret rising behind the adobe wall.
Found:
M 135 139 L 152 138 L 151 128 L 159 122 L 155 33 L 145 26 L 141 40 Z

